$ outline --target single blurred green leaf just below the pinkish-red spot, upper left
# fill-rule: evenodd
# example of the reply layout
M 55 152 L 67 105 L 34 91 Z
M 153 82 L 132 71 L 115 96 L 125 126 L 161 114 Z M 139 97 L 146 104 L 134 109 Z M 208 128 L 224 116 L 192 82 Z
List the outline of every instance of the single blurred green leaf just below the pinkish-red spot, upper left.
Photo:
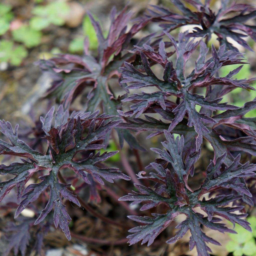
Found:
M 13 38 L 17 42 L 22 42 L 28 48 L 37 46 L 41 41 L 41 32 L 26 25 L 12 31 Z

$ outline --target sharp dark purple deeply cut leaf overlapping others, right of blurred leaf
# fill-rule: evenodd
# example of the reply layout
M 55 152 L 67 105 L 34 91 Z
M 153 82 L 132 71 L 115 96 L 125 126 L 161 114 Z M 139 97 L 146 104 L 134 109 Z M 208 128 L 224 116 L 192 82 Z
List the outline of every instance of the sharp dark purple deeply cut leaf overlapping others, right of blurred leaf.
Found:
M 125 63 L 125 67 L 120 68 L 122 77 L 124 78 L 122 82 L 129 83 L 127 86 L 128 89 L 154 86 L 160 91 L 151 94 L 144 92 L 141 94 L 135 93 L 129 96 L 122 101 L 131 101 L 135 103 L 131 105 L 131 111 L 125 113 L 119 111 L 119 113 L 124 117 L 136 115 L 136 118 L 138 118 L 142 113 L 159 112 L 161 111 L 160 109 L 172 112 L 174 116 L 167 119 L 172 121 L 168 131 L 175 129 L 175 126 L 183 119 L 187 119 L 187 125 L 189 127 L 193 126 L 197 133 L 195 137 L 196 150 L 198 151 L 202 143 L 203 134 L 210 133 L 211 131 L 209 131 L 208 127 L 213 127 L 213 125 L 217 123 L 217 121 L 212 118 L 213 111 L 232 111 L 238 109 L 237 106 L 229 105 L 227 103 L 219 103 L 222 99 L 220 97 L 236 87 L 244 89 L 253 88 L 249 86 L 249 80 L 232 80 L 232 76 L 239 72 L 239 68 L 230 72 L 226 77 L 216 77 L 218 70 L 222 66 L 244 63 L 242 62 L 240 53 L 231 50 L 225 51 L 225 45 L 221 46 L 217 52 L 215 47 L 212 46 L 212 57 L 205 60 L 208 48 L 204 42 L 194 42 L 193 40 L 189 40 L 189 38 L 186 37 L 187 32 L 179 34 L 178 42 L 176 42 L 171 35 L 166 35 L 169 37 L 176 50 L 176 68 L 173 67 L 171 61 L 168 61 L 164 57 L 162 57 L 161 60 L 161 58 L 158 57 L 158 55 L 166 55 L 162 41 L 159 45 L 158 55 L 147 54 L 146 56 L 144 54 L 144 49 L 141 48 L 143 70 L 139 70 L 133 65 Z M 199 44 L 200 54 L 196 61 L 196 67 L 187 77 L 185 77 L 185 65 Z M 147 46 L 144 45 L 144 48 L 147 48 Z M 153 73 L 148 58 L 151 62 L 160 63 L 164 67 L 163 80 L 157 78 Z M 211 88 L 215 84 L 215 87 L 220 88 L 219 91 L 217 90 L 220 97 L 211 97 Z M 228 88 L 228 90 L 223 89 L 223 86 Z M 197 87 L 207 87 L 207 97 L 191 92 L 191 89 Z M 226 91 L 224 92 L 224 90 Z M 167 99 L 169 95 L 176 96 L 180 99 L 178 101 L 180 103 L 176 104 L 169 101 Z M 200 112 L 196 110 L 196 105 L 201 106 Z

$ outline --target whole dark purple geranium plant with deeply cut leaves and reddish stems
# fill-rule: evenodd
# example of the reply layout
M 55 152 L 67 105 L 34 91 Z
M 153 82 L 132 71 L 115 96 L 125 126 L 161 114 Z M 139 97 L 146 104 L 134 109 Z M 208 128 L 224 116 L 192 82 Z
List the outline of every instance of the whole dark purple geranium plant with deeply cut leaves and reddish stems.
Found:
M 21 140 L 18 125 L 13 130 L 9 122 L 0 122 L 0 130 L 9 140 L 1 140 L 1 154 L 9 155 L 9 160 L 21 157 L 22 161 L 0 166 L 1 175 L 14 176 L 0 182 L 0 199 L 7 197 L 15 187 L 15 218 L 26 207 L 36 216 L 33 220 L 18 217 L 17 226 L 7 227 L 7 231 L 14 232 L 13 238 L 18 238 L 16 242 L 10 239 L 5 255 L 12 247 L 16 254 L 20 250 L 25 255 L 29 232 L 35 225 L 41 225 L 44 230 L 38 236 L 38 253 L 42 251 L 42 236 L 53 223 L 71 239 L 68 226 L 71 218 L 64 199 L 82 205 L 95 217 L 127 228 L 121 222 L 102 216 L 88 203 L 93 200 L 100 203 L 97 190 L 104 185 L 103 179 L 111 183 L 117 179 L 118 183 L 119 179 L 130 180 L 131 177 L 135 183 L 132 193 L 123 193 L 119 198 L 120 205 L 133 214 L 128 217 L 140 223 L 129 230 L 130 245 L 142 241 L 150 246 L 179 215 L 184 220 L 165 241 L 174 243 L 189 230 L 189 248 L 196 247 L 199 256 L 209 255 L 210 243 L 220 245 L 220 241 L 205 234 L 204 227 L 236 233 L 234 227 L 240 225 L 251 231 L 245 217 L 248 206 L 253 206 L 255 201 L 256 164 L 248 160 L 256 155 L 256 120 L 244 115 L 256 108 L 256 99 L 238 107 L 223 102 L 222 97 L 236 88 L 255 90 L 253 78 L 235 78 L 242 66 L 248 64 L 228 38 L 251 50 L 243 38 L 256 39 L 255 26 L 246 23 L 256 17 L 256 6 L 228 5 L 227 0 L 222 0 L 220 9 L 212 10 L 211 1 L 172 2 L 181 13 L 154 6 L 129 30 L 127 23 L 132 14 L 125 8 L 117 15 L 113 8 L 106 37 L 100 23 L 89 14 L 98 37 L 97 56 L 90 52 L 86 38 L 83 56 L 61 54 L 38 62 L 53 79 L 44 97 L 54 98 L 60 105 L 57 111 L 52 107 L 45 118 L 41 117 L 41 123 L 37 122 L 34 130 L 28 129 L 26 134 L 33 133 L 33 140 L 26 136 Z M 151 22 L 160 22 L 163 30 L 141 38 L 133 46 L 134 35 Z M 174 30 L 188 24 L 195 25 L 194 31 L 180 32 L 176 38 L 177 30 Z M 208 48 L 212 33 L 217 35 L 219 46 Z M 195 55 L 197 59 L 192 64 Z M 240 66 L 226 76 L 220 75 L 222 67 L 237 64 Z M 191 68 L 191 65 L 194 66 Z M 154 71 L 154 66 L 161 67 L 162 74 Z M 117 83 L 124 95 L 115 91 Z M 87 87 L 91 88 L 89 93 L 84 90 Z M 145 87 L 150 87 L 150 92 L 141 91 Z M 76 109 L 74 100 L 78 95 L 82 95 L 83 110 L 71 111 Z M 127 104 L 130 104 L 128 111 Z M 119 143 L 113 129 L 119 136 Z M 156 138 L 161 140 L 165 137 L 161 148 L 151 148 L 158 158 L 145 170 L 142 170 L 137 151 L 145 151 L 145 145 L 137 142 L 134 131 L 151 132 L 148 138 L 160 135 Z M 122 152 L 120 160 L 124 170 L 102 163 L 117 153 L 104 152 L 110 138 L 120 149 L 124 140 L 134 149 L 141 169 L 137 176 Z M 42 147 L 42 141 L 46 148 Z M 196 170 L 202 152 L 209 148 L 213 153 L 208 167 Z M 68 170 L 73 174 L 68 175 Z M 36 182 L 27 186 L 32 177 Z M 87 202 L 79 196 L 84 186 L 78 180 L 89 186 Z M 113 191 L 110 194 L 116 200 L 119 197 Z M 38 207 L 36 201 L 40 198 L 44 205 Z M 140 210 L 147 211 L 146 216 L 124 201 L 140 205 Z M 156 212 L 152 208 L 156 208 Z

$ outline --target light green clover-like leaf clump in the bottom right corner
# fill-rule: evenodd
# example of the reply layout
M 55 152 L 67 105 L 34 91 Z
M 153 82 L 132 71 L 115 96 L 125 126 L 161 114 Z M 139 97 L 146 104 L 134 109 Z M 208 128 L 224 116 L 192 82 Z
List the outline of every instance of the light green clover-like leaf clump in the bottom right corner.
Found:
M 256 256 L 256 217 L 248 217 L 247 221 L 251 223 L 252 232 L 236 224 L 234 230 L 237 234 L 229 234 L 231 241 L 227 243 L 226 250 L 234 256 Z

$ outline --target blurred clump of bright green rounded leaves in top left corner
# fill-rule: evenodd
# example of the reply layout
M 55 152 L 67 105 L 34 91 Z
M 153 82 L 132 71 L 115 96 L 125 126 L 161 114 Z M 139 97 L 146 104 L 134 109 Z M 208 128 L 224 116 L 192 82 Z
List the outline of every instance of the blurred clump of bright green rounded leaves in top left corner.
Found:
M 44 1 L 35 0 L 34 2 L 38 4 Z M 7 33 L 15 18 L 12 8 L 12 5 L 0 3 L 0 35 Z M 9 62 L 11 65 L 19 66 L 28 55 L 26 48 L 40 45 L 43 35 L 41 30 L 50 24 L 62 26 L 65 23 L 63 17 L 69 11 L 70 8 L 66 2 L 53 1 L 36 5 L 31 11 L 33 16 L 27 23 L 20 23 L 17 19 L 17 27 L 14 26 L 11 29 L 12 37 L 9 40 L 0 40 L 0 62 Z M 14 41 L 21 44 L 15 46 Z

